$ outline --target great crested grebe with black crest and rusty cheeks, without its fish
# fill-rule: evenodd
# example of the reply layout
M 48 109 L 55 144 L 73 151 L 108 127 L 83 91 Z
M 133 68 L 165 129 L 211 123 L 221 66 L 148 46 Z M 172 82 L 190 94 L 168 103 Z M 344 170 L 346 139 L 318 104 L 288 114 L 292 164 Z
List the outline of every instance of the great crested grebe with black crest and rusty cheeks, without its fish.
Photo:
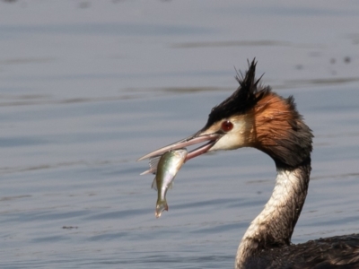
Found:
M 297 112 L 293 97 L 284 99 L 255 79 L 255 60 L 237 76 L 240 87 L 212 108 L 206 126 L 188 138 L 151 152 L 207 142 L 186 161 L 218 150 L 253 147 L 276 163 L 276 187 L 263 211 L 241 239 L 235 268 L 359 268 L 359 234 L 293 245 L 291 237 L 302 211 L 311 174 L 311 129 Z

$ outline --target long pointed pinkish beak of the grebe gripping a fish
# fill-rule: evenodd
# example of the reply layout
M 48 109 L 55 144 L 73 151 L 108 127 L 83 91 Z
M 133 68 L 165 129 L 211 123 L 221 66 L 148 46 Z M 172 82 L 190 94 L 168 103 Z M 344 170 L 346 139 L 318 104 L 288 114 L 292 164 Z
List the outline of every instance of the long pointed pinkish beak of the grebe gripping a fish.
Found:
M 140 159 L 138 159 L 137 161 L 142 161 L 144 159 L 161 156 L 165 152 L 181 149 L 181 148 L 193 145 L 193 144 L 207 142 L 207 143 L 197 147 L 193 151 L 188 152 L 188 155 L 185 160 L 185 161 L 188 161 L 189 159 L 195 158 L 201 154 L 208 152 L 209 149 L 211 147 L 213 147 L 213 145 L 218 141 L 218 139 L 220 139 L 222 137 L 222 135 L 223 134 L 216 134 L 216 133 L 215 134 L 203 134 L 201 131 L 199 131 L 196 134 L 192 134 L 192 135 L 188 136 L 187 138 L 182 139 L 176 143 L 171 143 L 165 147 L 162 147 L 161 149 L 158 149 L 154 152 L 148 153 L 148 154 L 144 155 L 143 157 L 141 157 Z

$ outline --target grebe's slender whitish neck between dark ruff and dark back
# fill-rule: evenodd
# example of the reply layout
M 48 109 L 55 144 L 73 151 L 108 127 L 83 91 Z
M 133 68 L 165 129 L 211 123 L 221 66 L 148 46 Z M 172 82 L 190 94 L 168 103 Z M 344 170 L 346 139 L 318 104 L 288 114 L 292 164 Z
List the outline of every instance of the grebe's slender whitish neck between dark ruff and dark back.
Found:
M 289 245 L 307 195 L 311 158 L 295 169 L 277 167 L 276 187 L 263 211 L 251 222 L 241 239 L 236 268 L 242 268 L 261 250 Z

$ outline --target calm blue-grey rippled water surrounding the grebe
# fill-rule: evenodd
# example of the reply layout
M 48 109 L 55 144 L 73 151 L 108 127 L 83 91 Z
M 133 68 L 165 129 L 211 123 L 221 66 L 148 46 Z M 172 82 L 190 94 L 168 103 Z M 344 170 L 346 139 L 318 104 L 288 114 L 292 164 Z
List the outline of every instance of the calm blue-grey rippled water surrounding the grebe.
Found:
M 276 176 L 261 152 L 180 170 L 154 218 L 136 159 L 205 125 L 256 56 L 314 131 L 304 242 L 359 232 L 359 4 L 0 3 L 0 267 L 232 268 Z

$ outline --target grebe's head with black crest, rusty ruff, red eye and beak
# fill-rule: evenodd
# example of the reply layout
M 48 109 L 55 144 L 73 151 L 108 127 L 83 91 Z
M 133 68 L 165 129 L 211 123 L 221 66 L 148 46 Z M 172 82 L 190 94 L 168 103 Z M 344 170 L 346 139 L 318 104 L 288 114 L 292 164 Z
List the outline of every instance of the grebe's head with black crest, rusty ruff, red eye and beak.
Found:
M 311 129 L 302 121 L 293 97 L 284 99 L 256 79 L 257 62 L 249 63 L 240 86 L 212 108 L 206 126 L 176 143 L 144 155 L 138 161 L 197 143 L 186 161 L 206 152 L 254 147 L 271 156 L 276 165 L 294 167 L 311 154 Z

